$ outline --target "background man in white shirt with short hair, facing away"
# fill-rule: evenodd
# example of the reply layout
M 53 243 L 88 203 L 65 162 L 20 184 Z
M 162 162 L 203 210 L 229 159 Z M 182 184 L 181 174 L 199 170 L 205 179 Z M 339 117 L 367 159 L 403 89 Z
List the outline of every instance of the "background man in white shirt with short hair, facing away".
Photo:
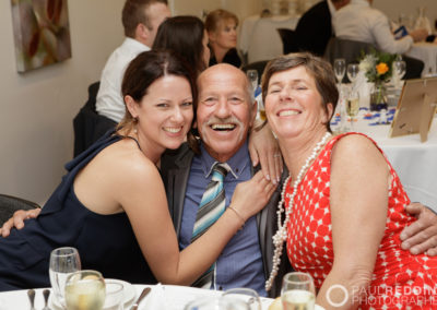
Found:
M 167 0 L 126 0 L 121 13 L 125 41 L 109 56 L 97 93 L 97 114 L 119 122 L 125 116 L 121 81 L 129 62 L 150 50 L 160 24 L 170 16 Z

